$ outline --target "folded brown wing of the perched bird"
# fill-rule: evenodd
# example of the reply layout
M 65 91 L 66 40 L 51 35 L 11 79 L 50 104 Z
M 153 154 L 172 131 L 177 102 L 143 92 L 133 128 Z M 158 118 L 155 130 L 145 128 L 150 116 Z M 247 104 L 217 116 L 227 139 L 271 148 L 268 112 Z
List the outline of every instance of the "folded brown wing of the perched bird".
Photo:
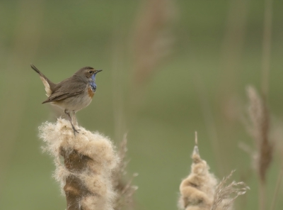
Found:
M 49 103 L 52 101 L 60 101 L 67 99 L 71 96 L 76 96 L 83 93 L 87 85 L 84 82 L 78 81 L 75 78 L 65 79 L 64 81 L 57 84 L 56 90 L 42 102 L 42 104 Z

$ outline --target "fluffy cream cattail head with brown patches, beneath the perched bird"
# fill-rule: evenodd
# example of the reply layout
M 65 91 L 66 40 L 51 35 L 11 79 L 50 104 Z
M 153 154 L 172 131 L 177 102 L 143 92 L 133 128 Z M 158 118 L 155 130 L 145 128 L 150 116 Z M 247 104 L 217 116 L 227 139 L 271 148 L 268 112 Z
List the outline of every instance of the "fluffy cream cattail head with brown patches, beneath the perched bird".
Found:
M 43 123 L 40 138 L 45 142 L 43 150 L 54 157 L 54 177 L 61 183 L 68 210 L 113 209 L 112 171 L 119 157 L 108 138 L 82 127 L 74 136 L 71 124 L 62 118 Z

